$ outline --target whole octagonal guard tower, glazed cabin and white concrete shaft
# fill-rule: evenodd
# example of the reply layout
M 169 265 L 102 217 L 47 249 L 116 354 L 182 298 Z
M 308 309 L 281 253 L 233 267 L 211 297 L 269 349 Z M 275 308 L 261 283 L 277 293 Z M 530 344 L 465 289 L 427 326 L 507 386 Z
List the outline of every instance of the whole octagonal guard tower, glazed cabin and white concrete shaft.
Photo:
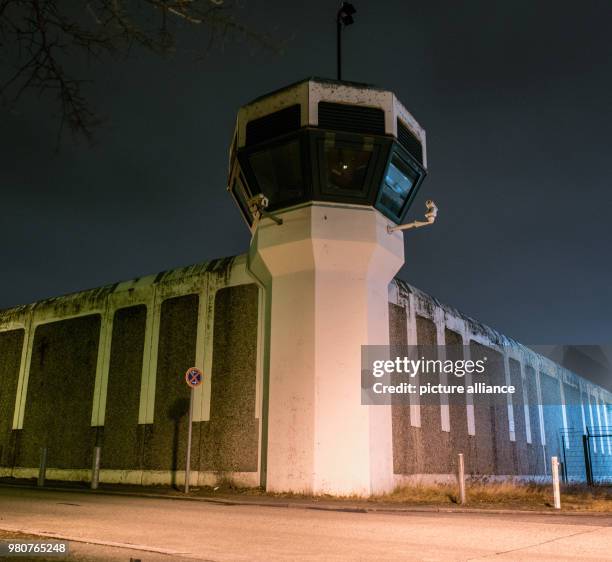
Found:
M 392 92 L 311 78 L 239 110 L 228 190 L 264 289 L 270 491 L 393 488 L 390 406 L 361 404 L 361 346 L 388 345 L 402 222 L 425 132 Z

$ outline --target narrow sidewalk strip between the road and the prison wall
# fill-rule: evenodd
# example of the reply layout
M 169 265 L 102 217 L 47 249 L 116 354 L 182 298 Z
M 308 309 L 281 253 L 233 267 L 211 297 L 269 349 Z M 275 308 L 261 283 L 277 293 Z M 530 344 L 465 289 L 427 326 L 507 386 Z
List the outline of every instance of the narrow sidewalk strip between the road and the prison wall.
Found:
M 33 479 L 0 478 L 0 486 L 10 488 L 37 488 Z M 352 513 L 482 513 L 508 515 L 588 515 L 610 517 L 610 512 L 579 511 L 542 507 L 535 508 L 503 508 L 495 506 L 462 507 L 460 505 L 435 505 L 419 503 L 385 502 L 379 499 L 354 499 L 333 497 L 298 497 L 266 494 L 260 490 L 231 490 L 210 487 L 192 488 L 189 494 L 179 489 L 166 486 L 135 486 L 125 484 L 100 484 L 97 490 L 91 490 L 86 482 L 65 482 L 48 480 L 44 486 L 46 491 L 71 491 L 85 494 L 131 496 L 141 498 L 161 498 L 178 501 L 196 501 L 236 506 L 259 506 L 289 509 L 315 509 L 322 511 L 341 511 Z

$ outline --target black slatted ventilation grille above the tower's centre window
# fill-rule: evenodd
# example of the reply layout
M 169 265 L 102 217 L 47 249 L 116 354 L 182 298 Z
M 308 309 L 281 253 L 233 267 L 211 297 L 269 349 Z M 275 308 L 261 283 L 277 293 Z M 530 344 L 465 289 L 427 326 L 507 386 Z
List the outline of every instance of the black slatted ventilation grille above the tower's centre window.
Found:
M 319 127 L 351 133 L 385 134 L 385 112 L 377 107 L 319 102 Z

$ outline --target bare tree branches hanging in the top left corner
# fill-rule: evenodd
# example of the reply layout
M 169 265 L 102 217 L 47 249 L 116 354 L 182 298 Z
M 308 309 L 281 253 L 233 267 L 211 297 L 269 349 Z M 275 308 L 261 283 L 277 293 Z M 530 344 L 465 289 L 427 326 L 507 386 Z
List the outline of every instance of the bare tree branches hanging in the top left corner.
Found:
M 96 60 L 140 47 L 158 55 L 176 49 L 180 26 L 208 36 L 201 57 L 216 43 L 242 37 L 278 51 L 267 35 L 235 17 L 224 0 L 0 0 L 0 97 L 13 105 L 24 92 L 55 92 L 64 125 L 91 141 L 100 120 L 83 92 L 89 81 L 73 76 L 66 61 L 79 54 Z M 64 61 L 64 62 L 62 62 Z

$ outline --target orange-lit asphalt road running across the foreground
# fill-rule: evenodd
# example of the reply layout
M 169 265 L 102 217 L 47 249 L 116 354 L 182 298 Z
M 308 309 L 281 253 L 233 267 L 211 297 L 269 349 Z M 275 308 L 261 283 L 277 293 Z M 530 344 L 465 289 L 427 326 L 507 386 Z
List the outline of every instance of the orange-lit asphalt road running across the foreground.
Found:
M 0 488 L 0 529 L 74 541 L 73 560 L 612 560 L 612 516 L 350 513 Z

